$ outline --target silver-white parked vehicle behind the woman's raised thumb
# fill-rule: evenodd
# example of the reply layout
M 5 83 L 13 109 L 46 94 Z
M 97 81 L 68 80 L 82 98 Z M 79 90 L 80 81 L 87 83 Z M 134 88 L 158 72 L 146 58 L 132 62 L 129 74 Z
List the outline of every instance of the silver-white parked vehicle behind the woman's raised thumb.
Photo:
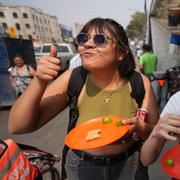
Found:
M 44 43 L 35 51 L 36 61 L 42 56 L 50 55 L 50 48 L 52 43 Z M 67 68 L 69 60 L 75 55 L 76 49 L 72 44 L 56 43 L 57 57 L 61 60 L 62 71 Z

